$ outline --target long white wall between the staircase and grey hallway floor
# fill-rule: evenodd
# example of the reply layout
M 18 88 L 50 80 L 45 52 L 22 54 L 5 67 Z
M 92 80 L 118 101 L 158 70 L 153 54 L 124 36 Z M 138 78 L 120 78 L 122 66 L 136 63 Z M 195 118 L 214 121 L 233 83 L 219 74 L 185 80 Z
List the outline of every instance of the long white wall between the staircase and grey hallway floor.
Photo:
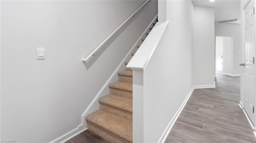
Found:
M 192 88 L 194 6 L 172 0 L 166 6 L 170 22 L 144 70 L 145 143 L 158 141 Z

